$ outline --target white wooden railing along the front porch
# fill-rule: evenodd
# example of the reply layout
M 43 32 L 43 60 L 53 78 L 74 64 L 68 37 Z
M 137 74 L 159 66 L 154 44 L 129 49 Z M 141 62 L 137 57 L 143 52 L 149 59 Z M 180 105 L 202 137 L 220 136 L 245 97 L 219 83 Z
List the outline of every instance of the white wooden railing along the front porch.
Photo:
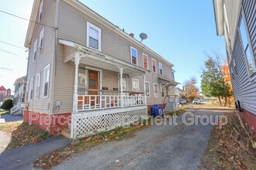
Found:
M 78 95 L 78 111 L 143 106 L 145 104 L 144 96 L 123 96 L 122 106 L 119 95 Z

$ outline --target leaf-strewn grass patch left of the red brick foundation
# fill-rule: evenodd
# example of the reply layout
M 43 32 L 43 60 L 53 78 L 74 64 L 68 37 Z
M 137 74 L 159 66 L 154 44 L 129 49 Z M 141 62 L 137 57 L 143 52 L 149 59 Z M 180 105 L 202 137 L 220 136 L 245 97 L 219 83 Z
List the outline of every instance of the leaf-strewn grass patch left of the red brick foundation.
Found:
M 11 134 L 12 139 L 7 146 L 7 150 L 30 145 L 38 141 L 49 138 L 49 133 L 40 128 L 29 125 L 25 122 L 0 125 L 0 131 Z

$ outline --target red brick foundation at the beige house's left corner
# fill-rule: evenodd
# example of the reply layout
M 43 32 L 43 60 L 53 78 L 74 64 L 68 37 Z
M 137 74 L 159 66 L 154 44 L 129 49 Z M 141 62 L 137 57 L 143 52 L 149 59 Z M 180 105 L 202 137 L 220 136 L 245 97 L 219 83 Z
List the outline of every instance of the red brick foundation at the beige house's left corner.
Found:
M 29 122 L 30 117 L 30 122 Z M 68 128 L 67 119 L 71 114 L 40 114 L 24 110 L 23 121 L 38 126 L 43 131 L 49 131 L 50 136 L 61 134 L 62 129 Z M 61 122 L 60 122 L 61 121 Z M 61 123 L 61 124 L 60 124 Z

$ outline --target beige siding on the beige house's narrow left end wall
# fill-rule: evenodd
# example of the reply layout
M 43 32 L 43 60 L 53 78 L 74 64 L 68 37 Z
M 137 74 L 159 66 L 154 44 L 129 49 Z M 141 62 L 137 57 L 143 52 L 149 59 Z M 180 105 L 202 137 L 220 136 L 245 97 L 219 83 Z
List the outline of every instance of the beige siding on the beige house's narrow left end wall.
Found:
M 54 26 L 54 16 L 55 16 L 56 4 L 54 1 L 43 1 L 43 18 L 40 23 L 47 26 Z M 38 17 L 38 16 L 37 16 Z M 38 21 L 38 19 L 36 19 Z M 27 81 L 34 79 L 33 84 L 33 100 L 29 100 L 29 111 L 42 112 L 49 114 L 50 110 L 50 94 L 51 94 L 51 84 L 52 84 L 52 73 L 53 73 L 53 61 L 54 61 L 54 29 L 36 24 L 33 30 L 33 38 L 31 42 L 31 47 L 29 48 L 29 58 L 28 58 L 28 69 L 27 69 Z M 33 61 L 33 45 L 37 39 L 39 43 L 40 32 L 44 27 L 43 36 L 43 52 L 36 56 L 36 60 Z M 43 97 L 43 70 L 44 67 L 50 64 L 50 80 L 49 80 L 49 97 Z M 40 98 L 35 100 L 35 87 L 36 87 L 36 74 L 40 73 Z M 30 83 L 29 83 L 30 84 Z

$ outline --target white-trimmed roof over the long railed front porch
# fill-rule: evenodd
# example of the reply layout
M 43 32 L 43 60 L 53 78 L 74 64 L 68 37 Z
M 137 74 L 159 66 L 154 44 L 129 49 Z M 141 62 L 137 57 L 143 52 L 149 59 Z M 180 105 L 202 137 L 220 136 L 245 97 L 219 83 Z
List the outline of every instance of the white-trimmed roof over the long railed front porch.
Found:
M 132 63 L 128 63 L 122 59 L 118 59 L 114 56 L 109 56 L 105 53 L 101 53 L 95 49 L 81 46 L 75 42 L 66 41 L 63 39 L 59 39 L 61 44 L 64 46 L 71 46 L 76 49 L 76 53 L 81 55 L 81 63 L 85 63 L 88 66 L 96 66 L 98 68 L 104 68 L 106 70 L 112 70 L 119 72 L 119 66 L 123 67 L 123 73 L 128 75 L 136 75 L 141 73 L 150 72 L 150 70 L 146 70 L 140 66 L 136 66 Z M 70 57 L 64 59 L 64 62 L 74 61 L 75 55 L 71 55 Z

